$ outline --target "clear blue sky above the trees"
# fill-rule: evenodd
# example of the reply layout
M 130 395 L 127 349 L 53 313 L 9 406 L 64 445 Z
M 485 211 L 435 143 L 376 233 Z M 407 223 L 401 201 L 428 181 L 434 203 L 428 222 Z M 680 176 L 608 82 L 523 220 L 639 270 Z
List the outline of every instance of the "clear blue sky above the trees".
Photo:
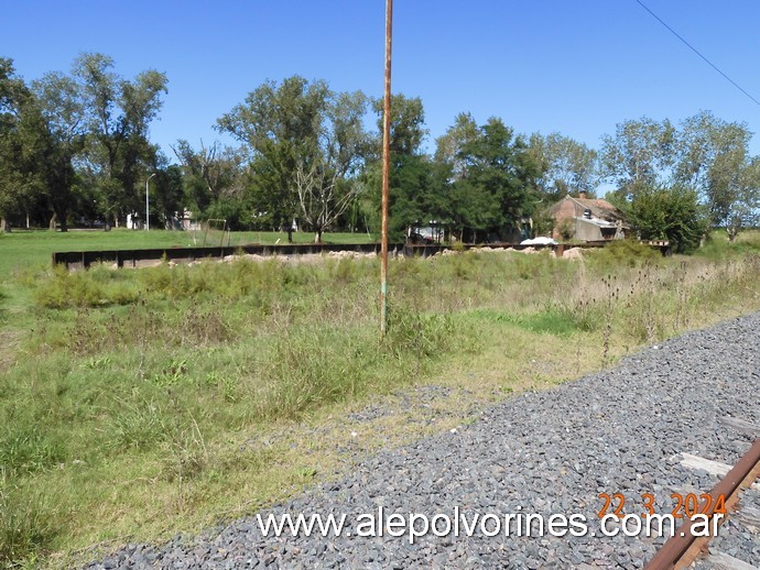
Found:
M 643 0 L 760 100 L 760 2 Z M 0 55 L 31 80 L 101 52 L 124 77 L 154 68 L 169 94 L 151 139 L 198 145 L 267 79 L 383 89 L 384 0 L 3 0 Z M 675 122 L 708 109 L 760 133 L 752 102 L 636 0 L 395 0 L 393 91 L 420 96 L 428 147 L 457 113 L 598 147 L 627 119 Z M 751 143 L 760 154 L 760 134 Z

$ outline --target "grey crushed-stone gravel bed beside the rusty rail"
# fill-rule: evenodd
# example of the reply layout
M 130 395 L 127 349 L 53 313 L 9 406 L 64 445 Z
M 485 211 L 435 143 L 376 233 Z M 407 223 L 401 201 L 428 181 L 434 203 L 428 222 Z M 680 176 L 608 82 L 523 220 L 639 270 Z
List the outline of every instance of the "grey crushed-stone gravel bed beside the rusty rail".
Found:
M 681 453 L 732 465 L 760 437 L 721 419 L 760 425 L 758 347 L 760 314 L 684 335 L 611 370 L 517 396 L 471 425 L 382 452 L 260 514 L 345 514 L 341 536 L 264 537 L 257 517 L 248 517 L 192 539 L 129 545 L 88 568 L 642 568 L 664 538 L 601 536 L 599 494 L 625 496 L 626 514 L 643 513 L 643 495 L 651 494 L 655 512 L 667 514 L 671 494 L 709 491 L 718 478 L 683 467 Z M 616 504 L 614 497 L 609 513 Z M 486 536 L 489 519 L 486 533 L 478 524 L 465 536 L 460 526 L 460 536 L 428 533 L 414 544 L 408 533 L 357 536 L 369 520 L 360 515 L 377 518 L 380 507 L 386 520 L 394 513 L 454 519 L 458 509 L 468 522 L 495 514 L 501 531 Z M 573 536 L 577 527 L 568 526 L 565 536 L 515 536 L 514 526 L 504 531 L 507 514 L 540 514 L 546 525 L 553 514 L 584 515 L 588 531 Z M 445 519 L 437 529 L 443 534 Z M 712 548 L 760 566 L 759 530 L 741 520 L 724 525 Z

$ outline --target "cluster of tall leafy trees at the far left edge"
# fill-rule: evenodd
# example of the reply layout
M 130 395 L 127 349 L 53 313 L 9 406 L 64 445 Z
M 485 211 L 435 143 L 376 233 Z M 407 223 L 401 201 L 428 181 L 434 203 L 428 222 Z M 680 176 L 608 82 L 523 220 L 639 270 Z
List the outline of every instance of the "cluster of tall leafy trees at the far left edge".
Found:
M 159 166 L 148 125 L 161 109 L 166 77 L 132 81 L 113 62 L 83 54 L 70 74 L 28 86 L 0 58 L 0 213 L 54 213 L 63 231 L 72 211 L 115 221 L 140 208 L 139 189 Z M 44 216 L 44 213 L 43 213 Z

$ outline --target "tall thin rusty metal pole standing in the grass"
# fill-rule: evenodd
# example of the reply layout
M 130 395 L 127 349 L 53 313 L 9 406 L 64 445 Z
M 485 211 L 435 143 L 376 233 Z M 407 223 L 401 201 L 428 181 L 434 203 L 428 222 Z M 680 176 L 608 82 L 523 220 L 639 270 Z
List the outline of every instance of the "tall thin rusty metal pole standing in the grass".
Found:
M 391 174 L 391 39 L 393 0 L 386 0 L 386 97 L 382 110 L 382 223 L 380 230 L 380 335 L 388 328 L 388 194 Z

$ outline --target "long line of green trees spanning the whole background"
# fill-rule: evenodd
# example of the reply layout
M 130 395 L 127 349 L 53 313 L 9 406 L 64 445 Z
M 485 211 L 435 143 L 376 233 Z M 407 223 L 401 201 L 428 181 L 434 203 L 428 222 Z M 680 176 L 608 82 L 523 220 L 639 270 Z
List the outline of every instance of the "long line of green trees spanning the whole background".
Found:
M 31 84 L 0 58 L 0 217 L 2 224 L 119 226 L 144 211 L 175 227 L 187 209 L 235 229 L 286 229 L 316 240 L 327 230 L 379 227 L 382 101 L 338 92 L 324 80 L 267 81 L 218 118 L 237 146 L 178 140 L 167 157 L 150 123 L 167 92 L 164 74 L 132 79 L 111 58 L 84 54 L 68 74 Z M 368 127 L 372 114 L 374 128 Z M 514 239 L 526 220 L 567 194 L 600 185 L 640 237 L 693 246 L 710 227 L 734 239 L 757 222 L 760 158 L 752 133 L 703 111 L 675 125 L 625 121 L 591 149 L 561 133 L 524 135 L 493 117 L 460 113 L 426 152 L 423 102 L 395 95 L 391 118 L 391 232 L 436 226 L 465 241 Z M 604 186 L 602 186 L 604 187 Z

